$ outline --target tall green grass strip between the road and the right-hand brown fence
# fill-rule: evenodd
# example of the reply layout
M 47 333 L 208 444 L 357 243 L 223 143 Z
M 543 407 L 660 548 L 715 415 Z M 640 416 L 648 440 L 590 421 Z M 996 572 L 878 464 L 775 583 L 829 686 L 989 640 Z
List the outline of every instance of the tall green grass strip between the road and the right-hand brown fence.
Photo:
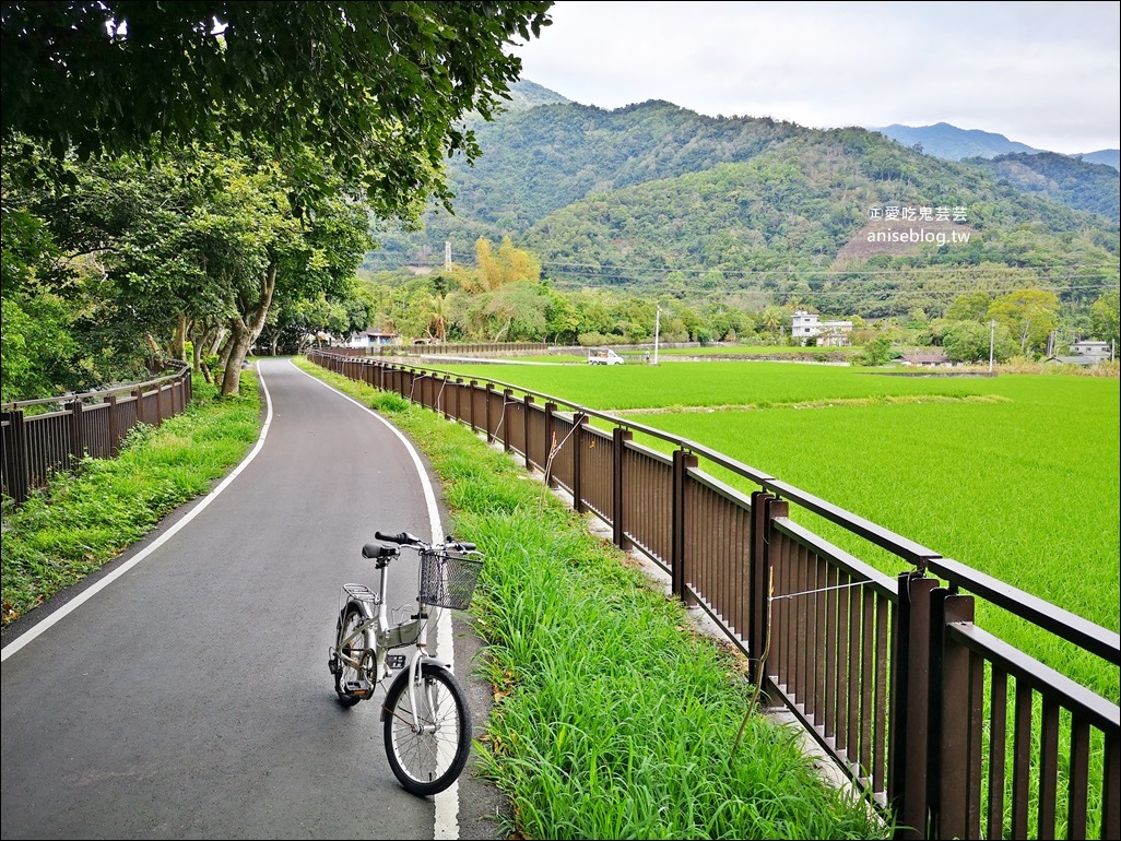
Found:
M 430 412 L 392 422 L 441 477 L 455 534 L 487 554 L 472 614 L 495 703 L 476 767 L 508 797 L 511 837 L 890 834 L 759 712 L 738 660 L 679 602 L 509 456 Z

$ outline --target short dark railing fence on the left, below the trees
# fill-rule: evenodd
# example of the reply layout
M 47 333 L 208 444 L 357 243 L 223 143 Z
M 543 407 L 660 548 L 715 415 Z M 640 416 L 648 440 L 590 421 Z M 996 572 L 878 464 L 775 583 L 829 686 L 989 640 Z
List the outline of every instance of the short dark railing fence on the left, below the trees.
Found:
M 4 404 L 0 412 L 0 484 L 22 505 L 52 474 L 83 458 L 108 459 L 120 451 L 129 429 L 158 426 L 191 403 L 191 367 L 175 373 L 101 391 Z M 43 412 L 57 406 L 57 409 Z M 28 409 L 37 414 L 27 414 Z

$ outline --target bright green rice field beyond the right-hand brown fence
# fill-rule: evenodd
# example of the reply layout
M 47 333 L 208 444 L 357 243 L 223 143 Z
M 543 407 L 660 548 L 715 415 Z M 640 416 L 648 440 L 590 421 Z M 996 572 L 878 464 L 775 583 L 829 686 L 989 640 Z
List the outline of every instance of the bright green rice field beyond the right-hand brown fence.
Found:
M 782 362 L 439 368 L 696 442 L 1104 628 L 1121 626 L 1117 378 Z M 906 569 L 807 512 L 791 517 L 888 574 Z M 979 622 L 1118 702 L 1117 668 L 985 606 Z

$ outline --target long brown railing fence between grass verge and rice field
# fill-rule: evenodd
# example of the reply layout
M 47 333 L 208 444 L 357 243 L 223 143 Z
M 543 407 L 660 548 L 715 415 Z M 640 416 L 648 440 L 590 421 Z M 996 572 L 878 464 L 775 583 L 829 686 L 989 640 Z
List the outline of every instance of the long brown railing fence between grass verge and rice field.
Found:
M 308 358 L 469 425 L 610 526 L 707 612 L 899 838 L 1121 834 L 1118 704 L 983 630 L 975 602 L 1104 669 L 1121 666 L 1117 634 L 659 429 L 502 382 Z M 902 569 L 879 572 L 795 523 L 791 507 Z

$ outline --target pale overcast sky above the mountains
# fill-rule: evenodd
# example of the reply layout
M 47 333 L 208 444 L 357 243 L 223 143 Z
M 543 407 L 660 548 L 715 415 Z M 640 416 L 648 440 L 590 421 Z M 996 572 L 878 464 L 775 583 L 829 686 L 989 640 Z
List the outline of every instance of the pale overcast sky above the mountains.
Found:
M 930 126 L 1080 154 L 1119 139 L 1121 3 L 557 0 L 524 80 L 808 128 Z

